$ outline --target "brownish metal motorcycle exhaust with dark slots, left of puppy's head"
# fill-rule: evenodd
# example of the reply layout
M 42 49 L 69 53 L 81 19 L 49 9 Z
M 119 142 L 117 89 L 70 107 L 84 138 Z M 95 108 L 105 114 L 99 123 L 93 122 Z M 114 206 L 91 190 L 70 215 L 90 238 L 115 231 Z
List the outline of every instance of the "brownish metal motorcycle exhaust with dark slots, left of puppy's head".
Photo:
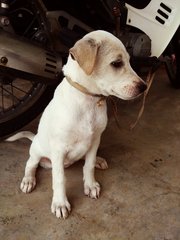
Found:
M 57 53 L 0 30 L 0 73 L 51 84 L 60 79 L 61 70 Z

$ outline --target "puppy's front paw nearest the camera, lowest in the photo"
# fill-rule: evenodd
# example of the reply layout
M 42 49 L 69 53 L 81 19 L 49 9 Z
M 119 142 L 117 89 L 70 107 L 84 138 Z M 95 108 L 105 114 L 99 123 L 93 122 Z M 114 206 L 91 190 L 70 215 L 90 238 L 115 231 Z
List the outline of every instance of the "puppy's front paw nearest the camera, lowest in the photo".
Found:
M 53 200 L 51 205 L 51 212 L 56 215 L 57 218 L 66 219 L 71 211 L 71 205 L 68 200 L 63 203 Z

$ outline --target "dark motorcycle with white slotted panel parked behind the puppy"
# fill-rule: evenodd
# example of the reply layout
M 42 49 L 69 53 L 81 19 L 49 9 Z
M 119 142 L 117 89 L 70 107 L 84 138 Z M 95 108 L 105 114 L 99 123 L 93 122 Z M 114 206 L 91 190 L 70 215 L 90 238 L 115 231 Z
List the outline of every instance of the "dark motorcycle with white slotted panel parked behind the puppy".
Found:
M 0 138 L 38 116 L 62 80 L 68 49 L 103 29 L 141 74 L 159 62 L 180 87 L 179 0 L 0 0 Z

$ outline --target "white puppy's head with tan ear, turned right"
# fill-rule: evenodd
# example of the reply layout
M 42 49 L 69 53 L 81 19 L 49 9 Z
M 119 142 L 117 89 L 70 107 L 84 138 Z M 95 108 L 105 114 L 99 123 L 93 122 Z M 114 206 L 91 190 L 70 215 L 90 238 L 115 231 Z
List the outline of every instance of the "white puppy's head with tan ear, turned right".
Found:
M 99 30 L 85 35 L 70 49 L 70 58 L 80 77 L 84 74 L 88 79 L 88 87 L 96 86 L 96 93 L 129 100 L 146 89 L 131 68 L 124 45 L 111 33 Z

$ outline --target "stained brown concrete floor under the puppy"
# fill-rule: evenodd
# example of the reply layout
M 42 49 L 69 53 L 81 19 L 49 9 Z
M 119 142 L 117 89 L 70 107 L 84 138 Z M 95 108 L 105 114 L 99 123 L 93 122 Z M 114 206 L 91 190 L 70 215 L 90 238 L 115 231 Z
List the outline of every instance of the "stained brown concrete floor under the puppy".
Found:
M 118 101 L 121 130 L 109 109 L 99 155 L 109 169 L 96 170 L 98 200 L 83 194 L 82 166 L 66 169 L 72 212 L 50 212 L 51 171 L 39 168 L 37 187 L 20 191 L 30 142 L 0 143 L 0 239 L 178 240 L 180 239 L 180 90 L 158 70 L 145 111 L 132 131 L 141 100 Z M 38 119 L 24 129 L 36 131 Z

